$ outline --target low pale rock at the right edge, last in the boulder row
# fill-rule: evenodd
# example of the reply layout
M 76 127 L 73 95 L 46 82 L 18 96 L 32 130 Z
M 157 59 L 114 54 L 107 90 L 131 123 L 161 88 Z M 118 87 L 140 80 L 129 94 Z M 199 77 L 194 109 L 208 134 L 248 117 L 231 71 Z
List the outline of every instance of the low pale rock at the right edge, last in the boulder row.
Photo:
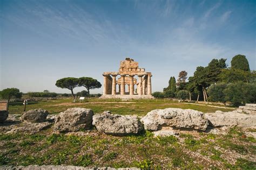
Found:
M 239 127 L 253 127 L 256 126 L 256 115 L 242 114 L 235 111 L 205 114 L 209 121 L 209 125 L 213 127 L 221 126 L 239 126 Z

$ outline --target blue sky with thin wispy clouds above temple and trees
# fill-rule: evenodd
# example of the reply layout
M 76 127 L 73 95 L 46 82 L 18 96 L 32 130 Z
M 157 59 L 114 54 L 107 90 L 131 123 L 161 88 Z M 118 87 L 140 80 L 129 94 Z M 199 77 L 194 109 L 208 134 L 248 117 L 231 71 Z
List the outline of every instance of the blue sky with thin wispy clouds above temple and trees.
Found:
M 230 65 L 244 54 L 256 69 L 256 1 L 0 2 L 0 90 L 69 93 L 56 80 L 103 83 L 102 73 L 118 71 L 126 56 L 152 72 L 152 91 L 213 58 Z

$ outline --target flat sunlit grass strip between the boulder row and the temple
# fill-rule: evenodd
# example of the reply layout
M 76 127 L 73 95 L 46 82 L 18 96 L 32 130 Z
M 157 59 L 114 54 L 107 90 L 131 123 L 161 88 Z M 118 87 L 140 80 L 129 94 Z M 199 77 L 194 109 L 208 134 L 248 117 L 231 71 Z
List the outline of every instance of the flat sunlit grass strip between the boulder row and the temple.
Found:
M 79 101 L 72 103 L 72 99 L 29 102 L 26 106 L 26 110 L 42 108 L 48 110 L 50 114 L 58 114 L 68 108 L 75 107 L 92 109 L 95 113 L 109 110 L 114 114 L 138 116 L 144 116 L 147 112 L 154 109 L 164 108 L 194 109 L 202 112 L 215 112 L 216 110 L 232 111 L 232 108 L 214 108 L 207 104 L 195 105 L 193 103 L 178 103 L 170 100 L 131 100 L 125 102 L 121 100 L 99 100 L 98 98 L 91 98 L 83 103 L 79 103 Z M 22 114 L 22 103 L 11 103 L 9 112 L 10 114 Z

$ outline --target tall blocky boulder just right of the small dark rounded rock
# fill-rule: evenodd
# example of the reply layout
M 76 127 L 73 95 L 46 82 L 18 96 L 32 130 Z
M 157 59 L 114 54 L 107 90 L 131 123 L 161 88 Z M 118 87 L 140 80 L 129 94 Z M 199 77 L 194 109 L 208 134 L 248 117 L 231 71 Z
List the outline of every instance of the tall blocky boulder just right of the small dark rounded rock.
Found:
M 56 116 L 53 129 L 60 132 L 75 132 L 90 129 L 93 111 L 85 108 L 70 108 Z

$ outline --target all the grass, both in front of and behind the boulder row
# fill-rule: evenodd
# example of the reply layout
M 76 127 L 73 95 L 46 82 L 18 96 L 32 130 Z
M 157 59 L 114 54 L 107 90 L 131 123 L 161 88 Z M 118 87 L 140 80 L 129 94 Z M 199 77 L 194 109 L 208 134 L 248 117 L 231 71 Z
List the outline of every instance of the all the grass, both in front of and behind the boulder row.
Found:
M 182 108 L 202 112 L 232 111 L 211 105 L 169 100 L 99 100 L 83 103 L 71 99 L 29 102 L 26 110 L 42 108 L 58 114 L 68 108 L 90 108 L 95 113 L 143 116 L 153 109 Z M 10 114 L 21 114 L 22 103 L 11 103 Z M 255 132 L 254 129 L 247 131 Z M 256 140 L 245 130 L 233 128 L 227 134 L 199 131 L 180 132 L 178 137 L 153 137 L 153 133 L 117 137 L 96 129 L 55 133 L 52 128 L 35 134 L 0 132 L 0 165 L 76 165 L 84 167 L 139 167 L 178 169 L 254 169 Z

